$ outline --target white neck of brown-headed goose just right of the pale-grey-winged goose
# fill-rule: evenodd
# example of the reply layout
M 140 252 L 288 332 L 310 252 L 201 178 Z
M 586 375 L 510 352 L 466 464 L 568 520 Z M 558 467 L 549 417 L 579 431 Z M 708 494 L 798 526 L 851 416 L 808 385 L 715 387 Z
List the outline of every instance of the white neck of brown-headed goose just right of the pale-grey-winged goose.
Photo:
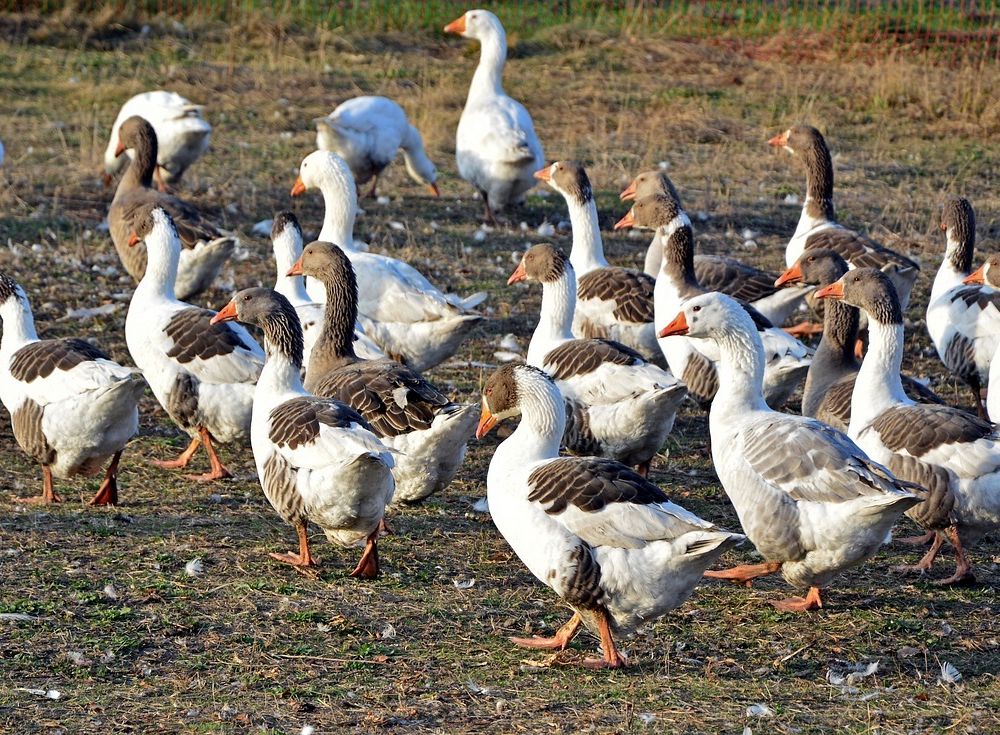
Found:
M 913 405 L 903 392 L 899 370 L 903 366 L 903 325 L 878 322 L 868 315 L 868 352 L 861 363 L 854 395 L 851 425 L 855 437 L 876 416 L 896 405 Z

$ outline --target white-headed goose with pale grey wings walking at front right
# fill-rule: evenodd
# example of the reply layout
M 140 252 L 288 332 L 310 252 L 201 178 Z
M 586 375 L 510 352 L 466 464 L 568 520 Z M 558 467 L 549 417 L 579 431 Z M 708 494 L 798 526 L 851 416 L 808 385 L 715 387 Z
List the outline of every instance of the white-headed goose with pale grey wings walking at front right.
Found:
M 822 588 L 870 559 L 899 516 L 920 502 L 921 491 L 836 429 L 768 407 L 760 335 L 729 296 L 688 299 L 660 335 L 718 345 L 719 391 L 709 414 L 712 461 L 743 532 L 765 559 L 706 576 L 747 583 L 780 571 L 808 593 L 772 602 L 775 607 L 822 607 Z

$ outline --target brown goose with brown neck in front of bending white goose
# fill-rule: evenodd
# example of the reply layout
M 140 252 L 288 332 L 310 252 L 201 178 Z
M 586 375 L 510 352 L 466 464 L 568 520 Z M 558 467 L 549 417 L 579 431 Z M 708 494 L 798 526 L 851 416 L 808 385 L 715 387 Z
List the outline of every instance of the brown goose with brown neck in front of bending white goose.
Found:
M 175 287 L 177 298 L 183 300 L 201 293 L 218 278 L 219 271 L 232 256 L 235 239 L 224 235 L 202 217 L 196 207 L 153 188 L 156 133 L 141 117 L 130 117 L 119 128 L 117 155 L 126 150 L 132 151 L 132 162 L 118 182 L 108 210 L 108 228 L 122 265 L 136 282 L 142 280 L 146 271 L 146 246 L 140 243 L 130 247 L 129 236 L 141 212 L 151 206 L 162 207 L 173 219 L 183 245 Z

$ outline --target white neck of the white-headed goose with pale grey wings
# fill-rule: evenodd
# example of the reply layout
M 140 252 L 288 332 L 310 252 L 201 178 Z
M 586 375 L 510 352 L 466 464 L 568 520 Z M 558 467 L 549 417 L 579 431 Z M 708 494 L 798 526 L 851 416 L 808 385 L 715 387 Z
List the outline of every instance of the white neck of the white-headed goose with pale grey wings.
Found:
M 747 316 L 740 329 L 727 329 L 716 337 L 720 360 L 719 392 L 712 401 L 711 415 L 742 415 L 769 411 L 764 401 L 764 345 Z

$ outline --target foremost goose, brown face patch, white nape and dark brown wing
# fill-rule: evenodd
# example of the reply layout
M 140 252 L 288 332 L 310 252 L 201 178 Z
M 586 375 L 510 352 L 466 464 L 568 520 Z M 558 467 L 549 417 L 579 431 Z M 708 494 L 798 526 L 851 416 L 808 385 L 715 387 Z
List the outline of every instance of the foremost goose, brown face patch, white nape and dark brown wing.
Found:
M 560 457 L 559 389 L 537 368 L 505 365 L 483 388 L 476 436 L 517 415 L 520 424 L 490 460 L 490 513 L 514 553 L 574 614 L 551 638 L 513 642 L 560 651 L 584 625 L 600 636 L 604 653 L 584 665 L 623 666 L 614 638 L 684 602 L 705 569 L 743 536 L 670 502 L 624 465 Z

